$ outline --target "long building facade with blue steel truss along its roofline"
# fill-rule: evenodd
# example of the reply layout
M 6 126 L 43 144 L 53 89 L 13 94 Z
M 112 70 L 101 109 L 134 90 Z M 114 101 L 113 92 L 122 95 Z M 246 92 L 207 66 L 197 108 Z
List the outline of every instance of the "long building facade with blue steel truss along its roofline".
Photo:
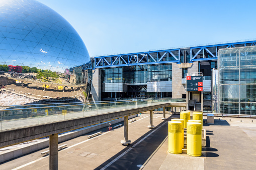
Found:
M 186 74 L 201 72 L 204 77 L 202 100 L 197 100 L 201 93 L 189 95 L 189 100 L 202 104 L 204 112 L 212 112 L 212 70 L 218 68 L 219 50 L 255 46 L 255 42 L 238 41 L 92 57 L 93 77 L 100 77 L 93 80 L 92 100 L 186 98 Z M 190 104 L 193 109 L 194 104 Z

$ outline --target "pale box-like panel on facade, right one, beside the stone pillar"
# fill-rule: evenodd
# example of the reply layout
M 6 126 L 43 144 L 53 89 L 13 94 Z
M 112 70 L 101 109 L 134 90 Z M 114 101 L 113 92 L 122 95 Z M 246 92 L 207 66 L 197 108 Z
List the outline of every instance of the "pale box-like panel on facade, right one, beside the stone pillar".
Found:
M 172 91 L 171 81 L 147 82 L 147 92 L 170 92 Z

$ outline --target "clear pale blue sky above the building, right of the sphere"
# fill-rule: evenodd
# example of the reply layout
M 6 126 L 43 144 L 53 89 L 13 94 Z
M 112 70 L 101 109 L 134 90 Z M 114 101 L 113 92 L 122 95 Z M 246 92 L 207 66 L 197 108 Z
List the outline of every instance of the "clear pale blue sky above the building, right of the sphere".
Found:
M 256 38 L 256 1 L 38 0 L 78 32 L 90 56 Z

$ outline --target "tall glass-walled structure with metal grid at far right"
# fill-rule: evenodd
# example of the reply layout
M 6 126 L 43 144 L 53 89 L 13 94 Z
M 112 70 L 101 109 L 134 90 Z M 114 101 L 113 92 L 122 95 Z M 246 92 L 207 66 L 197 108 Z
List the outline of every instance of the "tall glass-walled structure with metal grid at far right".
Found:
M 219 112 L 256 113 L 256 47 L 219 50 Z

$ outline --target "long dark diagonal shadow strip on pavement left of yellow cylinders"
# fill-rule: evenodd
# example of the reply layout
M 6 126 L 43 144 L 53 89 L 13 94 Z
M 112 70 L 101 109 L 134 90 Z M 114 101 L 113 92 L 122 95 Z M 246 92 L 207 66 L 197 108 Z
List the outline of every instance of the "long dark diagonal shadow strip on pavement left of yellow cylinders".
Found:
M 155 126 L 155 128 L 143 134 L 140 138 L 138 138 L 128 146 L 124 146 L 123 150 L 121 150 L 119 153 L 112 156 L 110 159 L 108 159 L 104 163 L 102 163 L 96 169 L 103 168 L 104 166 L 111 163 L 112 160 L 115 160 L 115 162 L 112 162 L 112 164 L 110 164 L 107 167 L 107 169 L 139 169 L 140 166 L 151 156 L 151 154 L 157 149 L 157 147 L 164 141 L 164 139 L 168 135 L 167 122 L 170 119 L 176 118 L 176 117 L 177 116 L 174 116 L 174 115 L 168 117 L 167 120 L 161 122 L 160 124 Z M 155 130 L 156 128 L 158 129 Z M 151 135 L 149 135 L 139 144 L 135 145 L 137 142 L 139 142 L 141 139 L 143 139 L 153 130 L 155 131 Z M 129 132 L 129 133 L 131 134 L 132 132 Z

